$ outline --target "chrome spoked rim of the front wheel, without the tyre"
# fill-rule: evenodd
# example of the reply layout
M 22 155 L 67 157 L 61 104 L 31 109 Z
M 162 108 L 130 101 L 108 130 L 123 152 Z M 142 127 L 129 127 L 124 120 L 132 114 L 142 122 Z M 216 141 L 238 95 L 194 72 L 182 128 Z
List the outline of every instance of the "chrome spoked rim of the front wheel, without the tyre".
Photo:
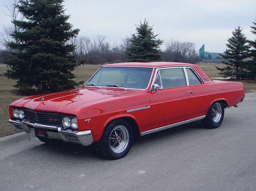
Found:
M 109 145 L 114 153 L 122 153 L 129 143 L 129 132 L 123 125 L 116 126 L 110 133 Z

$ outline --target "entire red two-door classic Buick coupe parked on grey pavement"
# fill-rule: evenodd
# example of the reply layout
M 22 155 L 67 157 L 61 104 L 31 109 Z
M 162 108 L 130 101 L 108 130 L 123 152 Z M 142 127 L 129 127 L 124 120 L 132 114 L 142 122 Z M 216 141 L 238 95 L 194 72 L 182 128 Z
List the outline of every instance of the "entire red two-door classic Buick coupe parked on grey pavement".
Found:
M 45 143 L 96 143 L 103 157 L 120 159 L 135 135 L 195 120 L 217 128 L 224 109 L 243 98 L 241 82 L 213 81 L 196 65 L 116 63 L 103 65 L 76 90 L 14 101 L 9 122 Z

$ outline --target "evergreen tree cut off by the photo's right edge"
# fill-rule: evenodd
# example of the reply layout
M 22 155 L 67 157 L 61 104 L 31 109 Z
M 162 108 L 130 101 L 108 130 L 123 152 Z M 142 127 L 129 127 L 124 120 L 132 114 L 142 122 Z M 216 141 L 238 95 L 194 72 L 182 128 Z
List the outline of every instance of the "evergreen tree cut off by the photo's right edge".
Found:
M 256 20 L 253 22 L 253 26 L 251 26 L 252 34 L 256 35 Z M 250 50 L 249 56 L 251 60 L 248 61 L 247 69 L 249 71 L 248 78 L 255 79 L 256 78 L 256 39 L 249 41 L 250 46 L 252 49 Z

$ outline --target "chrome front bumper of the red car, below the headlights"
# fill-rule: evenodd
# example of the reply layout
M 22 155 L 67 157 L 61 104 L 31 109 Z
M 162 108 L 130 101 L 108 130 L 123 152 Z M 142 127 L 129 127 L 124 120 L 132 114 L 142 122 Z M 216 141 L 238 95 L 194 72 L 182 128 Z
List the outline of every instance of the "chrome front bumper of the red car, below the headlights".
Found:
M 90 145 L 93 143 L 93 135 L 91 134 L 91 130 L 87 131 L 78 131 L 78 132 L 70 132 L 63 131 L 60 127 L 50 126 L 50 125 L 41 125 L 38 123 L 30 123 L 27 121 L 16 121 L 9 119 L 9 123 L 12 123 L 13 127 L 19 131 L 25 131 L 28 134 L 28 137 L 34 136 L 34 129 L 45 129 L 47 132 L 47 138 L 55 139 L 55 140 L 63 140 L 65 142 L 71 143 L 80 143 L 84 146 Z

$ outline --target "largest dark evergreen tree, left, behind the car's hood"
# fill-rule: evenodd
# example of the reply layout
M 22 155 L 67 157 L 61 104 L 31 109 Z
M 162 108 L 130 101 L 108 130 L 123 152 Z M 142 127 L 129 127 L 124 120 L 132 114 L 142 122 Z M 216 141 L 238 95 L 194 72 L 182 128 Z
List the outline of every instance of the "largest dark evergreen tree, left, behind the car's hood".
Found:
M 63 0 L 19 0 L 17 8 L 24 16 L 13 20 L 19 28 L 12 32 L 15 41 L 8 46 L 15 50 L 6 62 L 5 73 L 17 79 L 15 85 L 22 91 L 54 92 L 73 88 L 76 62 L 75 49 L 69 40 L 79 32 L 72 29 L 64 14 Z

